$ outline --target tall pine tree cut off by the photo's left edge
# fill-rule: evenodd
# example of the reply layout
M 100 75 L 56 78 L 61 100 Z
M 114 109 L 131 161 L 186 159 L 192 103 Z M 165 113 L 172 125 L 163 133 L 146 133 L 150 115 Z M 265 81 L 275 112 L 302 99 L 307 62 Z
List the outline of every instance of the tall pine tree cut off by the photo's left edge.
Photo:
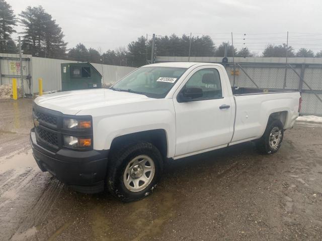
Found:
M 11 6 L 5 0 L 0 0 L 0 40 L 11 40 L 16 25 L 17 19 Z M 0 53 L 17 53 L 15 46 L 13 41 L 0 41 Z

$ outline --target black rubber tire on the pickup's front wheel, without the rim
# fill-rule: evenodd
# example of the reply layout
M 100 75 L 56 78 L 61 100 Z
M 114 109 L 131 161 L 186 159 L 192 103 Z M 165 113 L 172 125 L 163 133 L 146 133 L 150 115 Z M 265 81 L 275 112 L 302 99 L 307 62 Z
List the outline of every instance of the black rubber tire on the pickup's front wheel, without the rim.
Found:
M 129 162 L 140 155 L 146 155 L 153 161 L 154 176 L 143 190 L 130 191 L 124 184 L 124 171 Z M 133 143 L 118 150 L 112 150 L 107 172 L 107 188 L 111 194 L 123 202 L 140 200 L 153 191 L 162 171 L 163 158 L 156 147 L 147 142 Z

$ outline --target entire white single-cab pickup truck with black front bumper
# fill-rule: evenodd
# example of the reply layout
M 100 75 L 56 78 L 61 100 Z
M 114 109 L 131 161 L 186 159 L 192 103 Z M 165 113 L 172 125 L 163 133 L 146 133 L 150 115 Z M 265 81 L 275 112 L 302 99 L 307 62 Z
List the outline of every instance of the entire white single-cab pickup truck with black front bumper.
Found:
M 220 64 L 140 67 L 109 89 L 37 97 L 30 142 L 42 171 L 76 191 L 147 196 L 165 160 L 252 141 L 277 152 L 299 92 L 231 87 Z

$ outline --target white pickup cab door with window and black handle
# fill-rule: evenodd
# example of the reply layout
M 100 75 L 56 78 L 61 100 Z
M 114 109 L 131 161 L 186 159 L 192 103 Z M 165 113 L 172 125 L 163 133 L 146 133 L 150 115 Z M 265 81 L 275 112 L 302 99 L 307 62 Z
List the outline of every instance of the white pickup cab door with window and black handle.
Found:
M 202 66 L 192 71 L 176 91 L 175 157 L 216 149 L 230 142 L 233 100 L 225 96 L 224 86 L 218 69 Z M 201 90 L 202 96 L 199 93 L 199 97 L 187 98 L 187 92 Z

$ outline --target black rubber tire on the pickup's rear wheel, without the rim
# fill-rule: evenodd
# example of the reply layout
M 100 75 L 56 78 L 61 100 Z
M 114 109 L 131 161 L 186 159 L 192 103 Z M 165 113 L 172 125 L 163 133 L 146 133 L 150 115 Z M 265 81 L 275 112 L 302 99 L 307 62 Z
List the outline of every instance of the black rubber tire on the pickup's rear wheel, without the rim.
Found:
M 276 141 L 275 146 L 270 145 L 270 135 L 274 130 L 280 131 L 280 138 Z M 284 137 L 283 124 L 278 119 L 269 119 L 264 135 L 255 142 L 258 151 L 262 154 L 274 154 L 280 149 Z

